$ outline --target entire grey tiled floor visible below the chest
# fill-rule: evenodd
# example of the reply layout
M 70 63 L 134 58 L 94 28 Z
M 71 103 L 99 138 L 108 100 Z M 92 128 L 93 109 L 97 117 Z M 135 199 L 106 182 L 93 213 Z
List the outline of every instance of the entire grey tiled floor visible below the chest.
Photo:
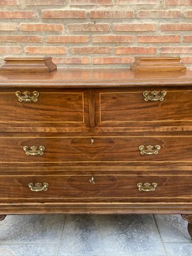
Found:
M 180 215 L 28 215 L 0 221 L 0 256 L 189 256 Z

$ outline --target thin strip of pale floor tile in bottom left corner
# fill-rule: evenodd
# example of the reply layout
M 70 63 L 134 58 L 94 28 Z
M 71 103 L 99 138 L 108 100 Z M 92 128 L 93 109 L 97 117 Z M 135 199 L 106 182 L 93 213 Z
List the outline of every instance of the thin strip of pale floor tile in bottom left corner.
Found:
M 0 246 L 0 256 L 56 256 L 57 251 L 58 244 L 20 244 Z

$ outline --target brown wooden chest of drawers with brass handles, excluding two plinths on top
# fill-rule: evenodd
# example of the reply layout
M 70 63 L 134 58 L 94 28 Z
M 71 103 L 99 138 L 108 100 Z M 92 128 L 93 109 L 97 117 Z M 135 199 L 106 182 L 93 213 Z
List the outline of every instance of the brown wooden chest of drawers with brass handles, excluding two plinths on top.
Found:
M 0 74 L 0 214 L 174 213 L 192 236 L 192 72 Z

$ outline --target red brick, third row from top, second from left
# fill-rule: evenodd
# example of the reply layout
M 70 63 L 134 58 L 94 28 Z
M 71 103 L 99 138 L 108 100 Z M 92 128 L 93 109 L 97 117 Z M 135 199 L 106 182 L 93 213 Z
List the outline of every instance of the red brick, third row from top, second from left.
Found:
M 43 23 L 22 23 L 20 24 L 22 31 L 62 31 L 62 24 L 43 24 Z

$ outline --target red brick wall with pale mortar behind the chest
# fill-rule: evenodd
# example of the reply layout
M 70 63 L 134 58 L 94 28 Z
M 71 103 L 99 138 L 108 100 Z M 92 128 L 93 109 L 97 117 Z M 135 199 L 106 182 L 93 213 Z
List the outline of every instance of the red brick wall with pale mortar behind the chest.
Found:
M 192 69 L 192 0 L 0 0 L 0 64 L 44 55 L 64 67 L 180 56 Z

